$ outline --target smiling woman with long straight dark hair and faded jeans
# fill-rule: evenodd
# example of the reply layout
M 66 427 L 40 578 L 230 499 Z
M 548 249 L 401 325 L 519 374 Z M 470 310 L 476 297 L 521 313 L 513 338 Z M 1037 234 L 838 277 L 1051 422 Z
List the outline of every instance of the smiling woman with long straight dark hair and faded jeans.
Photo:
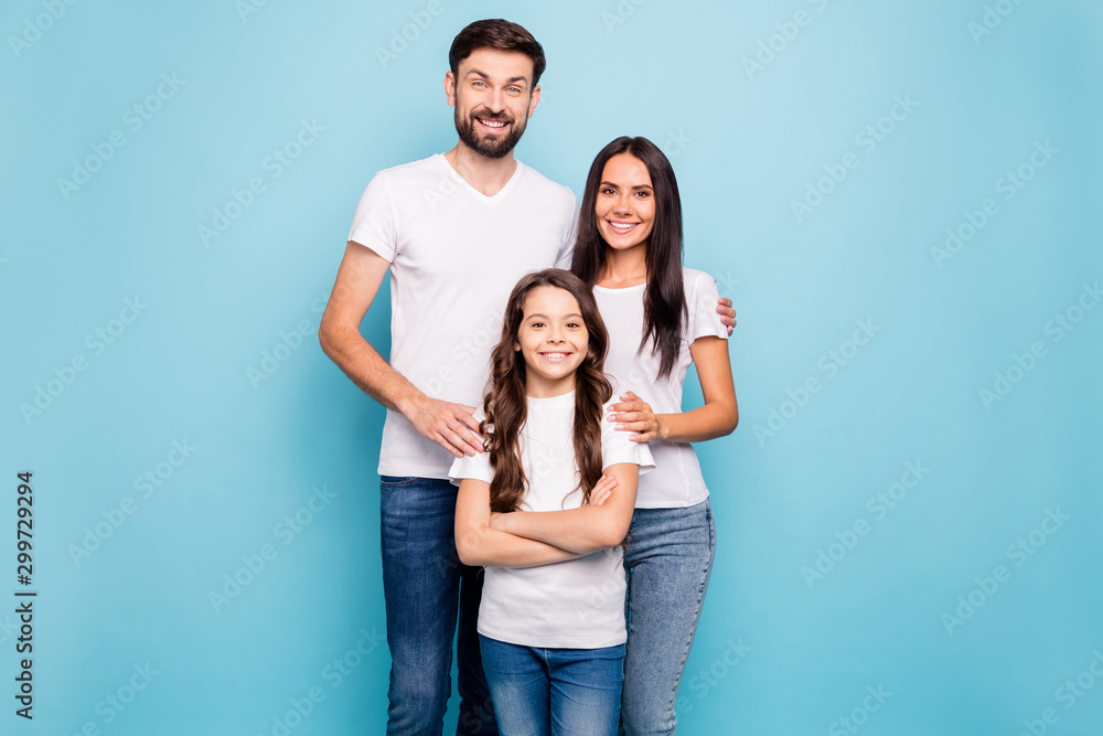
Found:
M 606 370 L 627 390 L 608 419 L 634 441 L 650 441 L 655 462 L 655 471 L 640 479 L 624 557 L 629 636 L 621 717 L 630 735 L 673 734 L 716 537 L 689 442 L 730 434 L 739 408 L 728 331 L 715 313 L 716 285 L 708 274 L 682 266 L 677 181 L 646 138 L 618 138 L 593 160 L 571 271 L 593 288 L 609 329 Z M 690 363 L 705 405 L 683 413 Z M 624 490 L 617 487 L 610 502 Z

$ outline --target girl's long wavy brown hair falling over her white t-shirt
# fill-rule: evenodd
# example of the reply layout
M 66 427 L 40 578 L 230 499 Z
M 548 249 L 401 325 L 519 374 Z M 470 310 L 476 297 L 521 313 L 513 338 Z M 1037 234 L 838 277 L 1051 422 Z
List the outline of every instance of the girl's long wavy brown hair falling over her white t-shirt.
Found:
M 525 317 L 525 298 L 540 286 L 565 289 L 578 301 L 582 322 L 589 333 L 589 348 L 575 372 L 574 445 L 582 504 L 590 501 L 590 489 L 601 478 L 601 413 L 612 396 L 612 386 L 602 369 L 609 349 L 609 332 L 598 312 L 593 292 L 580 278 L 560 268 L 545 268 L 522 278 L 510 294 L 502 324 L 502 340 L 491 353 L 491 387 L 483 399 L 486 418 L 479 425 L 488 440 L 494 480 L 490 484 L 493 511 L 516 511 L 528 488 L 521 463 L 521 431 L 528 418 L 525 395 L 525 359 L 514 350 Z

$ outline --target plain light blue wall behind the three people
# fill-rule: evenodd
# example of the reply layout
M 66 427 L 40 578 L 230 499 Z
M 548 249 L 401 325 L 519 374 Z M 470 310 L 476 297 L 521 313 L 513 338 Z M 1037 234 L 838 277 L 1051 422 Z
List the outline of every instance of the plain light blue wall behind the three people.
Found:
M 978 35 L 979 0 L 443 0 L 438 15 L 419 1 L 244 14 L 232 0 L 78 2 L 35 36 L 41 0 L 6 2 L 0 595 L 18 587 L 15 473 L 28 469 L 40 594 L 33 723 L 13 715 L 15 617 L 0 614 L 0 732 L 272 734 L 319 687 L 290 733 L 383 733 L 383 410 L 315 332 L 368 179 L 454 143 L 440 86 L 452 36 L 505 15 L 549 60 L 518 158 L 580 195 L 601 146 L 652 138 L 678 174 L 686 263 L 739 312 L 742 420 L 698 448 L 719 543 L 679 733 L 853 733 L 846 716 L 870 735 L 1014 735 L 1053 708 L 1047 733 L 1099 734 L 1103 681 L 1082 676 L 1092 686 L 1071 707 L 1059 689 L 1103 650 L 1103 309 L 1059 342 L 1046 326 L 1103 278 L 1103 11 L 996 4 L 1009 14 Z M 806 24 L 786 26 L 797 11 Z M 430 22 L 381 62 L 410 13 Z M 13 49 L 24 34 L 35 40 Z M 777 51 L 748 73 L 760 42 Z M 133 130 L 126 110 L 162 74 L 185 82 Z M 856 136 L 898 95 L 918 106 L 867 150 Z M 265 160 L 302 120 L 324 131 L 275 178 Z M 57 180 L 113 131 L 125 146 L 66 199 Z M 1000 178 L 1036 141 L 1058 152 L 1005 200 Z M 792 202 L 847 152 L 857 168 L 799 221 Z M 254 177 L 265 192 L 205 245 L 197 227 Z M 998 212 L 940 267 L 931 248 L 989 198 Z M 136 295 L 148 308 L 97 353 L 87 335 L 122 327 L 111 320 Z M 363 326 L 381 349 L 387 302 L 384 290 Z M 250 381 L 302 320 L 298 349 Z M 858 320 L 878 331 L 854 354 Z M 1045 355 L 985 406 L 979 390 L 1035 341 Z M 833 376 L 831 350 L 852 355 Z M 25 418 L 20 405 L 78 355 L 86 370 Z M 786 405 L 808 377 L 821 391 Z M 791 418 L 767 436 L 772 409 Z M 174 440 L 197 449 L 162 465 L 171 477 L 142 498 L 135 479 Z M 878 518 L 867 500 L 908 462 L 930 472 Z M 335 495 L 282 535 L 315 487 Z M 127 498 L 133 513 L 74 559 Z M 1035 532 L 1045 543 L 1030 556 L 1009 555 L 1047 510 L 1068 519 Z M 856 522 L 868 533 L 852 538 Z M 832 547 L 840 537 L 853 548 Z M 265 544 L 275 559 L 215 611 L 208 593 Z M 802 573 L 820 551 L 837 557 L 822 579 Z M 1009 579 L 989 595 L 975 578 L 997 565 Z M 983 604 L 947 623 L 971 593 Z M 326 666 L 362 630 L 371 653 L 350 655 L 334 686 Z M 147 664 L 148 686 L 107 705 Z M 878 686 L 884 704 L 864 701 Z M 446 732 L 454 719 L 453 701 Z

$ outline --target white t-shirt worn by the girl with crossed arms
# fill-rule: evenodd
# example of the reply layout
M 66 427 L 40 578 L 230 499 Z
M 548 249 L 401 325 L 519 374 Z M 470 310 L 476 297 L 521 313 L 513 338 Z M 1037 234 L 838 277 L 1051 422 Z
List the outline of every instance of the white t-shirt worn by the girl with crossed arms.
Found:
M 528 398 L 528 418 L 520 442 L 528 491 L 515 513 L 581 505 L 581 490 L 571 492 L 578 484 L 574 414 L 575 392 Z M 481 410 L 478 417 L 484 418 Z M 630 433 L 612 426 L 602 422 L 602 470 L 619 462 L 632 462 L 640 466 L 641 477 L 645 477 L 643 473 L 654 468 L 647 445 L 631 441 Z M 494 469 L 490 454 L 457 458 L 449 476 L 456 484 L 463 478 L 491 482 Z M 622 559 L 622 550 L 613 547 L 550 565 L 488 567 L 479 605 L 479 633 L 512 644 L 556 649 L 597 649 L 624 643 L 627 586 Z

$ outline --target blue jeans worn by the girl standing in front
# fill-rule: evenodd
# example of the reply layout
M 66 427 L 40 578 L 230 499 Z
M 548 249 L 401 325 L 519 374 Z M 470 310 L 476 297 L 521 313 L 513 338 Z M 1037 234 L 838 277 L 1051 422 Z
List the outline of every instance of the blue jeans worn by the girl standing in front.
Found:
M 624 644 L 545 649 L 480 640 L 502 736 L 615 736 Z

